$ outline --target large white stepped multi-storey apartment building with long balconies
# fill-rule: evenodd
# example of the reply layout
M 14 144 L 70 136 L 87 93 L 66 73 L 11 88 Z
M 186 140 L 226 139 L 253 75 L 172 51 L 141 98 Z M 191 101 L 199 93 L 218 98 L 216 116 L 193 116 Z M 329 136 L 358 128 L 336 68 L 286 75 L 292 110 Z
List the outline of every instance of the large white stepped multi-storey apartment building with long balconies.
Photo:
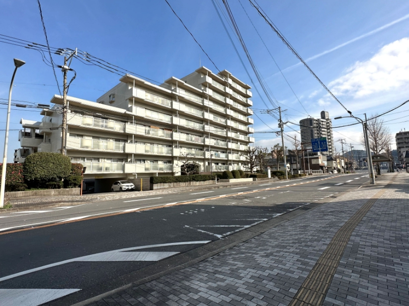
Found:
M 244 151 L 254 142 L 250 88 L 226 70 L 205 67 L 160 86 L 122 76 L 96 102 L 68 97 L 67 155 L 86 166 L 84 179 L 95 181 L 96 192 L 118 179 L 180 175 L 186 159 L 201 172 L 244 170 Z M 61 152 L 62 97 L 51 103 L 41 122 L 21 119 L 15 161 Z

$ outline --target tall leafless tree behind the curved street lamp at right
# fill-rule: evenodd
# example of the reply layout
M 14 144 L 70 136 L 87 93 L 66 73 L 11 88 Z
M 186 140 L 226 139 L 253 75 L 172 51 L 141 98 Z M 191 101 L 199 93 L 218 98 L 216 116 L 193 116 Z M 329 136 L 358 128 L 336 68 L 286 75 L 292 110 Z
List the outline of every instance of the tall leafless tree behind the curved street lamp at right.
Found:
M 375 114 L 376 117 L 378 114 Z M 369 148 L 373 153 L 380 154 L 386 152 L 389 148 L 389 144 L 392 141 L 391 132 L 387 126 L 385 126 L 383 119 L 373 118 L 368 120 L 368 138 L 369 138 Z M 361 144 L 365 144 L 364 136 L 361 134 L 360 139 Z M 378 175 L 381 175 L 381 167 L 379 162 L 377 164 Z

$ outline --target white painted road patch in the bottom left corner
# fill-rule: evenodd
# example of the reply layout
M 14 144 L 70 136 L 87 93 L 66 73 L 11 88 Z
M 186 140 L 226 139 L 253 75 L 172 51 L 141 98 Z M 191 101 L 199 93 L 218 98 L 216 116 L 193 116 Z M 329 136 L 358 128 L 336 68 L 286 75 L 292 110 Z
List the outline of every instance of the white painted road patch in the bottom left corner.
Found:
M 0 301 L 7 306 L 36 306 L 81 289 L 0 289 Z

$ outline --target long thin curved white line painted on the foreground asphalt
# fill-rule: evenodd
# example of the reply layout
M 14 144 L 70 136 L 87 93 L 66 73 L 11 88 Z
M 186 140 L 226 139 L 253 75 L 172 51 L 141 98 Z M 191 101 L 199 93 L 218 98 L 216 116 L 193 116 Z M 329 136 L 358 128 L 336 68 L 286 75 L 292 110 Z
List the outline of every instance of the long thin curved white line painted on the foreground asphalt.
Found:
M 97 253 L 97 254 L 92 254 L 92 255 L 86 255 L 86 256 L 72 258 L 72 259 L 67 259 L 67 260 L 64 260 L 64 261 L 59 261 L 59 262 L 48 264 L 48 265 L 41 266 L 41 267 L 38 267 L 38 268 L 34 268 L 34 269 L 19 272 L 19 273 L 7 275 L 7 276 L 4 276 L 4 277 L 1 277 L 0 282 L 11 279 L 11 278 L 14 278 L 14 277 L 17 277 L 17 276 L 26 275 L 28 273 L 32 273 L 32 272 L 36 272 L 36 271 L 40 271 L 40 270 L 60 266 L 60 265 L 70 263 L 70 262 L 87 261 L 88 258 L 94 257 L 94 256 L 99 256 L 99 255 L 112 254 L 112 253 L 118 253 L 118 252 L 126 252 L 126 251 L 133 251 L 133 250 L 140 250 L 140 249 L 151 248 L 151 247 L 162 247 L 162 246 L 184 245 L 184 244 L 205 244 L 205 243 L 209 243 L 209 242 L 211 242 L 211 240 L 183 241 L 183 242 L 173 242 L 173 243 L 162 243 L 162 244 L 152 244 L 152 245 L 127 247 L 127 248 L 123 248 L 123 249 L 119 249 L 119 250 L 107 251 L 107 252 L 102 252 L 102 253 Z

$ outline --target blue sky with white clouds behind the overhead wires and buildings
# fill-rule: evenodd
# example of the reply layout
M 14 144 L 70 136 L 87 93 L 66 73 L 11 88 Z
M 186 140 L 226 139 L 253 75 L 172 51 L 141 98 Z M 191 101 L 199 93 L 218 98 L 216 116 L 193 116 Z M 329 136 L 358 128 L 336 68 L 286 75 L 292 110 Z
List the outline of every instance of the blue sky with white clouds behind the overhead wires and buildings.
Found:
M 168 1 L 218 68 L 232 72 L 251 85 L 211 0 Z M 328 97 L 319 82 L 299 65 L 298 59 L 249 5 L 248 0 L 241 2 L 308 114 L 317 116 L 325 109 L 331 117 L 346 115 L 345 110 Z M 409 99 L 408 1 L 257 2 L 353 114 L 363 116 L 361 114 L 365 112 L 368 115 L 382 113 Z M 255 65 L 275 98 L 283 109 L 287 109 L 285 118 L 298 122 L 307 117 L 249 23 L 239 1 L 230 0 L 229 3 Z M 50 46 L 77 47 L 159 82 L 170 76 L 182 77 L 191 73 L 199 67 L 199 61 L 217 72 L 164 0 L 42 0 L 41 5 Z M 0 8 L 0 34 L 45 44 L 37 1 L 0 0 Z M 231 30 L 229 26 L 228 29 Z M 233 39 L 250 71 L 251 79 L 261 92 L 243 50 L 239 48 L 237 39 Z M 13 58 L 27 63 L 17 73 L 13 99 L 48 103 L 52 95 L 58 93 L 52 69 L 43 63 L 38 52 L 3 43 L 0 43 L 0 98 L 6 99 L 8 96 Z M 55 55 L 54 61 L 62 64 L 63 58 Z M 95 101 L 105 90 L 118 83 L 119 76 L 98 67 L 85 66 L 76 60 L 71 67 L 76 70 L 77 78 L 70 87 L 69 95 Z M 57 76 L 61 84 L 62 74 L 58 70 Z M 253 107 L 264 109 L 260 97 L 254 89 L 252 91 Z M 3 118 L 0 118 L 0 129 L 5 127 L 4 107 L 0 105 L 0 117 Z M 396 119 L 385 122 L 393 136 L 393 148 L 395 133 L 404 128 L 409 129 L 409 122 L 396 123 L 407 119 L 401 118 L 409 114 L 405 111 L 409 111 L 409 105 L 384 117 L 385 121 Z M 277 127 L 272 117 L 259 116 L 270 127 Z M 38 111 L 13 109 L 10 129 L 21 128 L 21 118 L 40 120 L 41 116 Z M 254 119 L 255 131 L 269 130 L 255 116 Z M 333 125 L 349 122 L 352 120 L 336 120 Z M 297 129 L 296 126 L 293 128 Z M 286 131 L 291 136 L 296 134 L 290 128 L 286 128 Z M 4 131 L 0 133 L 2 140 Z M 334 129 L 334 139 L 344 138 L 348 143 L 356 144 L 355 149 L 360 149 L 360 133 L 359 126 Z M 12 160 L 13 150 L 19 148 L 17 135 L 17 131 L 10 131 L 9 161 Z M 255 134 L 255 145 L 271 147 L 279 141 L 273 135 Z M 286 145 L 291 148 L 290 143 Z M 2 148 L 1 141 L 0 152 Z M 340 150 L 339 143 L 336 149 Z

